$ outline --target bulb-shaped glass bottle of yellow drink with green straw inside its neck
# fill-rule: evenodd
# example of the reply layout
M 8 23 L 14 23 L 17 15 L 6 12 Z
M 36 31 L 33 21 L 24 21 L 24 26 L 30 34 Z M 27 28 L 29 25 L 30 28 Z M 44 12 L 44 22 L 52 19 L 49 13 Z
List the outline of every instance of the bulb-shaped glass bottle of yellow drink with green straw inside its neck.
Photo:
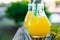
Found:
M 24 25 L 32 37 L 43 38 L 50 32 L 50 23 L 43 2 L 38 3 L 37 7 L 35 3 L 32 3 L 32 10 L 28 10 Z

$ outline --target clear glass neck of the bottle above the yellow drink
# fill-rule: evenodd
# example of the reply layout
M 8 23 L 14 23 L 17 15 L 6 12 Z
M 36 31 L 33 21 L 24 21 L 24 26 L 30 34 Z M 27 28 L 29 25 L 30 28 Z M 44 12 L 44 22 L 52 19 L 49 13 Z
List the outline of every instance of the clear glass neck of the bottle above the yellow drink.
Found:
M 33 12 L 33 13 L 36 12 L 36 14 L 34 14 L 34 15 L 41 15 L 42 13 L 45 13 L 43 2 L 37 4 L 37 9 L 35 6 L 36 6 L 35 3 L 29 3 L 28 4 L 28 11 Z

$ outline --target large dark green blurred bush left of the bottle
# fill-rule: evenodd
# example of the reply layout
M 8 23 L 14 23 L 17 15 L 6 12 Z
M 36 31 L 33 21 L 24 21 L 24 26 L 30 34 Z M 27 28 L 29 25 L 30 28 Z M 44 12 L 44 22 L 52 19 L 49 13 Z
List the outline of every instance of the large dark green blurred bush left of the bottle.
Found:
M 15 2 L 11 3 L 6 9 L 6 17 L 14 19 L 16 23 L 22 22 L 28 11 L 27 2 Z

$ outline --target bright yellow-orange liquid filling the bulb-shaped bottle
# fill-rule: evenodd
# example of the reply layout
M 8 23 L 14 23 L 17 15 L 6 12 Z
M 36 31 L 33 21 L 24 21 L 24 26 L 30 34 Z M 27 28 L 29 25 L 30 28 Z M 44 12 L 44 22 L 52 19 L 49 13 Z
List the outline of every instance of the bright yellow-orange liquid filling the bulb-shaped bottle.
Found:
M 32 12 L 28 12 L 24 21 L 25 27 L 31 36 L 45 37 L 50 31 L 50 24 L 45 16 L 32 16 Z

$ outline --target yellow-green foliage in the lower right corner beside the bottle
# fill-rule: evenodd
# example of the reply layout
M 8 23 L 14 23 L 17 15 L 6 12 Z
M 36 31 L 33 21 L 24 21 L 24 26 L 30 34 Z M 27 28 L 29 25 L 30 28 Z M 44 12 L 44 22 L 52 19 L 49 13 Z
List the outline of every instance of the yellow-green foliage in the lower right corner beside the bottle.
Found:
M 51 26 L 51 39 L 52 40 L 60 40 L 60 26 L 57 26 L 56 23 L 52 24 Z

